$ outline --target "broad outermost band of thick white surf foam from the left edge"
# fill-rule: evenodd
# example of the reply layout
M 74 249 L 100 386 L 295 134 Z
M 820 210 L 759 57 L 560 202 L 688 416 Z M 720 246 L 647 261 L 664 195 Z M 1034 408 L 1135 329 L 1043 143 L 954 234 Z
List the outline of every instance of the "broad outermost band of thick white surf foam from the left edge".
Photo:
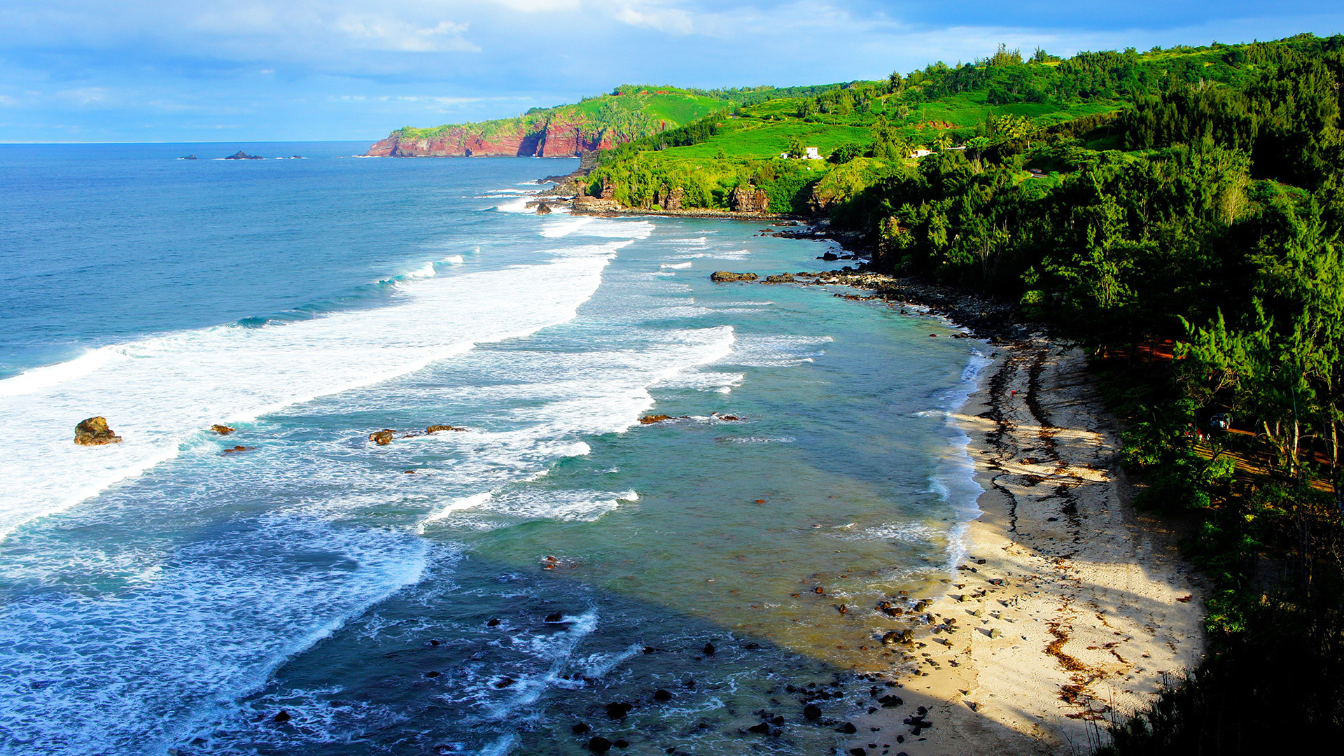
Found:
M 0 381 L 0 538 L 172 459 L 211 424 L 247 422 L 570 320 L 625 243 L 403 281 L 378 309 L 142 339 Z M 74 425 L 91 416 L 108 417 L 124 443 L 74 445 Z

